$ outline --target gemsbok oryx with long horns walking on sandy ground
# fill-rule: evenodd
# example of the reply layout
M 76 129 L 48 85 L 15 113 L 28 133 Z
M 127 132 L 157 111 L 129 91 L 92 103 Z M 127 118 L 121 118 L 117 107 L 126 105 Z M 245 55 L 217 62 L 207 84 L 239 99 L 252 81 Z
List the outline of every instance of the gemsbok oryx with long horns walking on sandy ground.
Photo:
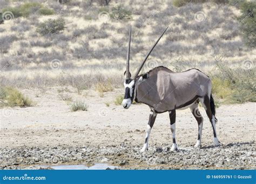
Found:
M 168 27 L 167 27 L 168 28 Z M 213 143 L 215 146 L 219 145 L 217 138 L 215 124 L 217 119 L 215 118 L 215 104 L 211 94 L 212 82 L 210 78 L 198 69 L 188 69 L 184 72 L 172 72 L 172 70 L 159 66 L 151 69 L 149 72 L 139 75 L 145 61 L 149 57 L 153 48 L 157 45 L 167 28 L 158 38 L 156 43 L 147 53 L 142 65 L 138 68 L 135 75 L 131 76 L 129 72 L 129 60 L 130 60 L 130 45 L 131 45 L 131 26 L 129 35 L 129 44 L 127 50 L 127 61 L 125 75 L 125 95 L 122 105 L 125 109 L 128 109 L 133 100 L 138 103 L 144 103 L 149 105 L 151 112 L 149 122 L 147 124 L 145 143 L 140 150 L 144 152 L 149 147 L 149 137 L 151 129 L 154 125 L 157 114 L 168 111 L 172 132 L 172 148 L 171 150 L 177 150 L 177 142 L 175 138 L 176 130 L 176 110 L 183 110 L 190 108 L 193 116 L 198 122 L 198 139 L 194 147 L 201 146 L 202 129 L 203 129 L 203 117 L 198 110 L 198 103 L 201 102 L 206 111 L 208 118 L 213 128 Z

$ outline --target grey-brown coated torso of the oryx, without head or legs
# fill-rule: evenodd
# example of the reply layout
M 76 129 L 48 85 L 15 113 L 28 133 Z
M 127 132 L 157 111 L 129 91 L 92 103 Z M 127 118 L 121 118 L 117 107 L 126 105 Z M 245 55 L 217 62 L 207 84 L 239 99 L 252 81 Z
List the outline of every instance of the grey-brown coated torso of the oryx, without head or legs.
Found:
M 160 66 L 148 75 L 136 86 L 135 101 L 149 105 L 157 113 L 187 107 L 206 96 L 212 87 L 209 77 L 197 69 L 175 73 Z

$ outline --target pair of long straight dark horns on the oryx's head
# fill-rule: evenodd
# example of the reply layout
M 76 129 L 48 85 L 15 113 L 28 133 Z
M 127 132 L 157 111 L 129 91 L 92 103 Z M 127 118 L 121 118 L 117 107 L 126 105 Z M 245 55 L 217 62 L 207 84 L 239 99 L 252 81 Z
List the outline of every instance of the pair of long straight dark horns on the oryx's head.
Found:
M 131 29 L 132 26 L 130 25 L 130 31 L 129 31 L 129 44 L 128 44 L 128 50 L 127 50 L 127 57 L 126 57 L 126 79 L 130 79 L 130 47 L 131 47 Z M 150 51 L 147 53 L 145 59 L 142 62 L 142 65 L 140 65 L 140 67 L 138 68 L 137 72 L 135 73 L 133 79 L 136 79 L 137 76 L 139 75 L 140 70 L 142 70 L 142 67 L 144 65 L 144 63 L 146 62 L 147 58 L 149 58 L 149 55 L 151 54 L 151 52 L 153 51 L 154 47 L 156 47 L 158 41 L 161 39 L 161 37 L 163 37 L 165 31 L 168 29 L 168 27 L 166 27 L 166 29 L 164 30 L 164 32 L 161 34 L 161 36 L 158 38 L 158 40 L 156 41 L 156 43 L 153 45 L 153 47 L 150 49 Z

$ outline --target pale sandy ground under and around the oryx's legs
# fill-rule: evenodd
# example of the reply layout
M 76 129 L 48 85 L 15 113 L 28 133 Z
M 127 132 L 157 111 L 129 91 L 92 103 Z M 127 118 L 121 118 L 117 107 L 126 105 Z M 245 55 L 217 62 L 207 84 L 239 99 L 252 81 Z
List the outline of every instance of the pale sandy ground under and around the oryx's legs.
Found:
M 49 159 L 45 161 L 43 159 L 45 155 L 40 154 L 40 150 L 51 152 L 51 149 L 55 150 L 54 154 L 57 154 L 57 156 L 65 152 L 63 149 L 68 149 L 70 152 L 78 149 L 76 152 L 80 150 L 83 152 L 81 155 L 87 152 L 88 154 L 85 154 L 85 157 L 79 156 L 80 158 L 75 159 L 77 164 L 81 162 L 92 164 L 105 159 L 104 162 L 107 161 L 110 164 L 117 164 L 125 168 L 169 168 L 165 167 L 170 166 L 168 160 L 152 161 L 151 158 L 150 162 L 149 155 L 154 157 L 154 154 L 158 158 L 165 158 L 166 154 L 174 154 L 178 157 L 190 153 L 192 155 L 199 154 L 198 151 L 195 153 L 192 148 L 196 144 L 198 126 L 189 109 L 177 111 L 176 140 L 180 151 L 177 153 L 170 152 L 169 146 L 172 144 L 172 138 L 169 115 L 164 113 L 157 116 L 151 132 L 149 152 L 139 154 L 139 149 L 144 143 L 145 129 L 150 112 L 147 105 L 134 104 L 128 110 L 114 105 L 113 100 L 117 95 L 123 94 L 122 89 L 107 92 L 104 97 L 99 97 L 98 93 L 93 90 L 86 90 L 83 91 L 82 95 L 78 95 L 75 89 L 70 89 L 70 92 L 64 91 L 63 93 L 72 96 L 73 100 L 82 99 L 89 105 L 87 111 L 71 112 L 69 105 L 58 96 L 57 89 L 60 88 L 48 89 L 46 93 L 40 94 L 39 97 L 36 97 L 39 94 L 38 89 L 23 90 L 25 95 L 30 96 L 37 102 L 35 107 L 1 109 L 0 166 L 2 168 L 24 168 L 34 164 L 74 162 L 69 159 L 51 161 L 53 157 L 50 158 L 50 161 Z M 106 107 L 105 102 L 110 102 L 110 107 Z M 207 154 L 212 152 L 218 154 L 221 149 L 224 152 L 228 149 L 232 152 L 230 156 L 233 158 L 236 157 L 236 154 L 233 155 L 234 150 L 238 148 L 242 152 L 239 158 L 249 157 L 249 163 L 245 160 L 240 165 L 243 165 L 243 168 L 255 168 L 255 104 L 221 105 L 217 109 L 217 133 L 221 142 L 221 146 L 218 148 L 211 147 L 213 145 L 211 123 L 208 121 L 204 109 L 200 108 L 204 117 L 203 148 L 196 150 L 202 150 L 206 154 L 205 157 L 207 157 Z M 121 151 L 119 149 L 115 152 L 114 150 L 118 147 Z M 38 163 L 25 159 L 27 158 L 24 156 L 24 150 L 26 149 L 28 149 L 25 151 L 27 153 L 33 150 L 31 154 L 35 153 L 37 155 L 39 161 L 36 160 L 36 162 Z M 21 150 L 24 153 L 21 153 Z M 125 156 L 125 154 L 130 154 L 130 150 L 133 150 L 134 153 L 132 158 L 128 155 Z M 69 153 L 69 151 L 66 152 Z M 101 151 L 104 153 L 102 154 Z M 120 153 L 123 155 L 122 159 L 120 159 L 121 157 L 116 158 L 118 152 L 123 152 Z M 18 158 L 22 159 L 17 161 Z M 127 161 L 127 158 L 130 158 L 129 161 Z M 226 158 L 225 153 L 223 158 Z M 35 157 L 33 157 L 33 160 L 35 160 Z M 197 165 L 200 165 L 200 167 L 197 168 L 218 168 L 217 162 L 210 161 L 210 165 L 199 163 Z M 177 163 L 174 162 L 170 168 L 176 168 Z M 157 165 L 155 167 L 155 164 L 161 166 Z M 225 162 L 225 164 L 220 168 L 237 168 L 228 164 L 228 162 Z M 187 168 L 194 168 L 192 167 L 193 162 L 192 164 L 186 163 L 186 165 L 191 166 Z

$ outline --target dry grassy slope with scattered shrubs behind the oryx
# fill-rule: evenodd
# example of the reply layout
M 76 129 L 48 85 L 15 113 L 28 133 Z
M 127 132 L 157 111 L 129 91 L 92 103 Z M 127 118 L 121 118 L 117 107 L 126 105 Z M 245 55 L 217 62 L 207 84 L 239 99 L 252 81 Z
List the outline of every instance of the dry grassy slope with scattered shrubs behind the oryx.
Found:
M 255 102 L 256 50 L 240 29 L 251 20 L 241 16 L 243 1 L 104 2 L 1 1 L 0 12 L 13 14 L 0 24 L 1 85 L 42 91 L 72 86 L 78 94 L 95 88 L 103 97 L 123 84 L 129 24 L 132 71 L 169 25 L 144 72 L 159 65 L 174 71 L 196 67 L 210 74 L 221 102 Z M 255 36 L 249 40 L 255 44 Z M 71 109 L 83 107 L 76 104 Z

